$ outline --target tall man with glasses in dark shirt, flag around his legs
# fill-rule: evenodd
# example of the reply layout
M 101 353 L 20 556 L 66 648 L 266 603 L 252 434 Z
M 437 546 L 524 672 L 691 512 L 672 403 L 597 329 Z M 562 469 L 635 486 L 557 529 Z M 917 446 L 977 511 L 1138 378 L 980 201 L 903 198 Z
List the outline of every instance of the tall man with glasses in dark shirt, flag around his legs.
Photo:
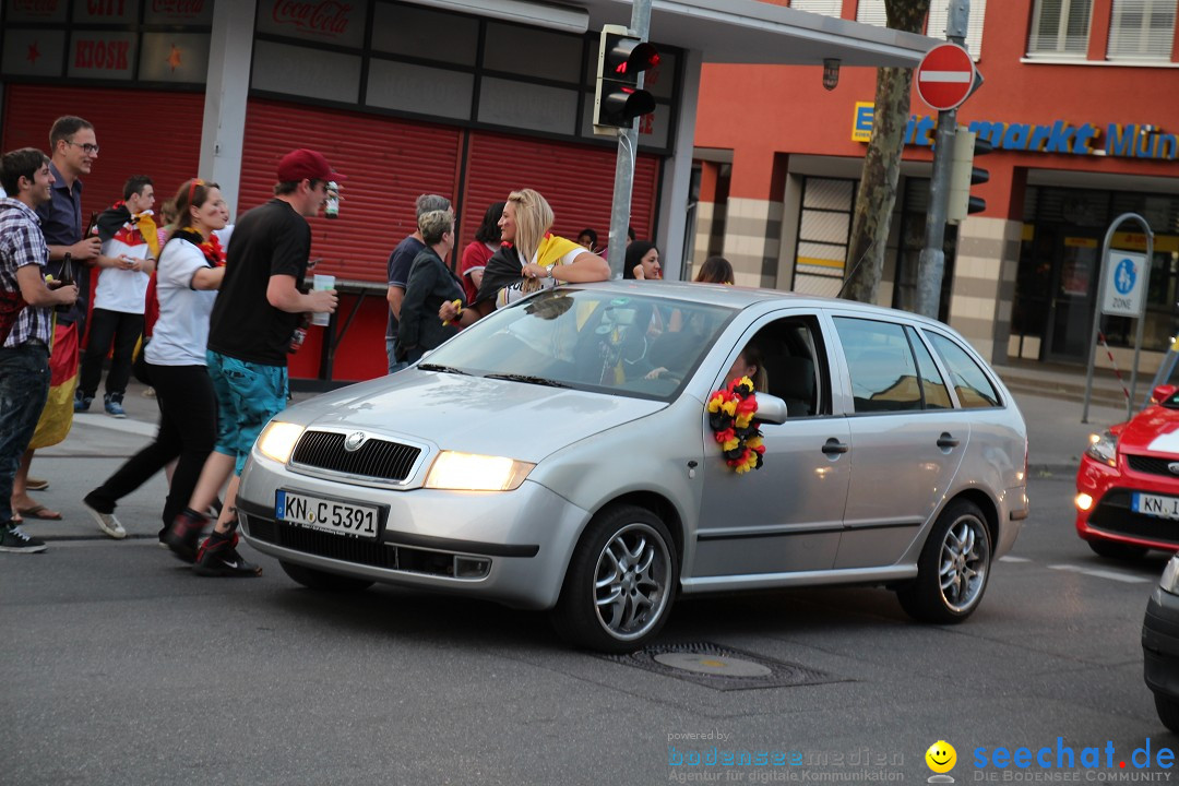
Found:
M 28 443 L 17 471 L 12 490 L 12 507 L 26 519 L 61 519 L 61 514 L 39 504 L 28 495 L 28 488 L 45 488 L 47 481 L 33 481 L 28 468 L 33 451 L 58 444 L 73 425 L 74 388 L 78 383 L 78 344 L 85 330 L 86 304 L 90 298 L 90 269 L 114 267 L 119 260 L 104 257 L 98 237 L 84 237 L 81 191 L 84 174 L 90 174 L 98 158 L 98 138 L 94 126 L 74 115 L 60 117 L 50 130 L 50 173 L 53 185 L 50 200 L 37 209 L 41 232 L 50 246 L 46 273 L 61 280 L 65 257 L 72 258 L 71 276 L 78 284 L 78 300 L 66 312 L 57 315 L 53 333 L 53 355 L 50 358 L 52 382 L 48 399 L 37 423 L 37 431 Z M 125 537 L 124 531 L 104 531 L 111 537 Z

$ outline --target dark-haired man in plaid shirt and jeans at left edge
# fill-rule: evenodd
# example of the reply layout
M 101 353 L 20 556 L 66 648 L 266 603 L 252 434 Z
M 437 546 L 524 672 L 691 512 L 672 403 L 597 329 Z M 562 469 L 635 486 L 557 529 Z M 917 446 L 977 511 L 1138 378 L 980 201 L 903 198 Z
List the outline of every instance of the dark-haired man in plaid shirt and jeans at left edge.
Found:
M 50 159 L 25 147 L 0 159 L 0 551 L 35 554 L 45 543 L 20 529 L 12 481 L 50 390 L 53 306 L 72 305 L 78 286 L 50 289 L 45 244 L 34 209 L 50 200 Z

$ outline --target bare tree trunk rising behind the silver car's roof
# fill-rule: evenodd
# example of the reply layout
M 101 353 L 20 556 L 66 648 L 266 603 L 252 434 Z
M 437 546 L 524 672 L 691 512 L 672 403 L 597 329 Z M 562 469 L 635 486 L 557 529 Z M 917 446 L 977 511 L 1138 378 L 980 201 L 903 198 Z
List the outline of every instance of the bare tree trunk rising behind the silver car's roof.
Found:
M 929 0 L 884 0 L 888 26 L 920 33 Z M 913 68 L 876 70 L 876 106 L 872 137 L 864 154 L 856 207 L 848 244 L 847 297 L 875 303 L 884 271 L 884 250 L 896 204 L 896 183 L 901 174 L 904 131 L 909 123 L 909 86 Z

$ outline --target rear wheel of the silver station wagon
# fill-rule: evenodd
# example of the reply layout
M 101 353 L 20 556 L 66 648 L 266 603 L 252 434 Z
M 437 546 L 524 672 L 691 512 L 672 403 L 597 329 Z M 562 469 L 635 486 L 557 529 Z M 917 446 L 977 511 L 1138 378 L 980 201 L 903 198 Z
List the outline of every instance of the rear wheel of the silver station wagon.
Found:
M 950 502 L 921 550 L 917 577 L 896 590 L 901 608 L 922 622 L 961 622 L 982 601 L 990 557 L 990 531 L 979 506 Z

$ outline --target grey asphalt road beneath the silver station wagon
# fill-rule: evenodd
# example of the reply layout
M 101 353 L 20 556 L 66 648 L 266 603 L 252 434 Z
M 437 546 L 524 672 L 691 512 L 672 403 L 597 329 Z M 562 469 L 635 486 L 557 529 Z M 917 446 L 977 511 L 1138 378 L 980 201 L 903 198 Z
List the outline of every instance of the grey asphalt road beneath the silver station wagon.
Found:
M 39 461 L 80 498 L 118 458 Z M 976 748 L 1112 744 L 1113 768 L 1084 781 L 1125 774 L 1121 760 L 1145 774 L 1129 757 L 1147 738 L 1152 754 L 1179 745 L 1141 678 L 1164 559 L 1093 555 L 1067 478 L 1032 480 L 1013 559 L 960 626 L 913 623 L 874 588 L 680 602 L 661 643 L 830 680 L 735 691 L 568 650 L 544 614 L 393 588 L 320 595 L 257 554 L 261 579 L 195 577 L 154 542 L 163 488 L 120 508 L 138 537 L 79 522 L 45 554 L 0 559 L 0 784 L 924 782 L 937 740 L 973 782 Z M 789 764 L 687 764 L 713 746 Z

